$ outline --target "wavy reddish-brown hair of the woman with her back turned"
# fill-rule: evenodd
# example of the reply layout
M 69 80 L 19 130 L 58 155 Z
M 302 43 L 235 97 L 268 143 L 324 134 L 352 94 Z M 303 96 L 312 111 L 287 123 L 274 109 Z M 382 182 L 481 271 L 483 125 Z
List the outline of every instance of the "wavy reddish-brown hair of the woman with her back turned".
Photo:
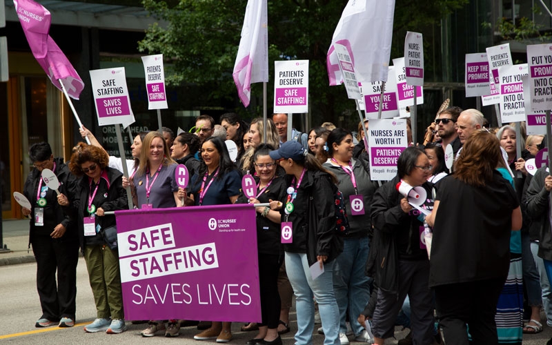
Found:
M 454 178 L 482 187 L 493 179 L 493 173 L 502 160 L 498 138 L 487 130 L 473 132 L 460 151 L 460 157 L 454 164 Z

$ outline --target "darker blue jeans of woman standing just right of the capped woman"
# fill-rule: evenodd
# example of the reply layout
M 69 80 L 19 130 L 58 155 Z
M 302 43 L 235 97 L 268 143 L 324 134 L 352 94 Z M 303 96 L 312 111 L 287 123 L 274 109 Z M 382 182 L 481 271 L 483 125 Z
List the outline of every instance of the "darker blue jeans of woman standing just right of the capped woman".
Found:
M 345 238 L 343 253 L 335 259 L 333 271 L 333 290 L 339 306 L 339 332 L 346 333 L 345 324 L 347 308 L 351 328 L 355 335 L 364 329 L 357 321 L 370 299 L 369 278 L 366 277 L 366 260 L 368 259 L 368 237 Z

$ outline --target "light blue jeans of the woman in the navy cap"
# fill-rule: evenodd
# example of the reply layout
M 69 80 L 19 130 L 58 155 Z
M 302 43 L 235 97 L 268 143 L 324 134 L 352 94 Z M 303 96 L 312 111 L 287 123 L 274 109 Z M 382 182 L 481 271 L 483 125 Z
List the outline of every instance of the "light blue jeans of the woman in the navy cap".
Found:
M 315 304 L 324 330 L 324 345 L 340 345 L 339 308 L 333 294 L 333 266 L 335 260 L 324 264 L 324 273 L 313 280 L 305 253 L 286 252 L 286 271 L 295 293 L 297 333 L 295 345 L 312 345 L 315 327 Z

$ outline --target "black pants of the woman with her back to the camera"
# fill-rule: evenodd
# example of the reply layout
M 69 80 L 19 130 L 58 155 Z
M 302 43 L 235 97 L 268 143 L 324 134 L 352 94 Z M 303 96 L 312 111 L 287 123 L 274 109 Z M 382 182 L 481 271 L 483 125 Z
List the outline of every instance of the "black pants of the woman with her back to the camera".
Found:
M 506 277 L 435 286 L 435 303 L 446 345 L 495 345 L 496 306 Z

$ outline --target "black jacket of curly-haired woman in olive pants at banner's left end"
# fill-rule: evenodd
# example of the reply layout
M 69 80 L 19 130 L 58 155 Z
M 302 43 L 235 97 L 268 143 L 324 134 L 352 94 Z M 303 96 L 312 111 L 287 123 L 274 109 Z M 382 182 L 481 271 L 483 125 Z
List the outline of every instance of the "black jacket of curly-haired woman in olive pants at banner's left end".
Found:
M 97 208 L 103 208 L 104 211 L 115 211 L 115 210 L 128 210 L 128 199 L 126 197 L 126 190 L 123 188 L 122 184 L 122 177 L 123 174 L 116 169 L 112 169 L 109 167 L 106 167 L 103 169 L 104 173 L 107 176 L 107 179 L 103 179 L 104 181 L 108 182 L 108 190 L 106 191 L 103 185 L 100 182 L 100 187 L 96 198 L 99 196 L 106 195 L 107 196 L 103 198 L 103 201 L 97 203 L 95 202 L 94 206 Z M 81 249 L 84 250 L 84 224 L 83 219 L 85 215 L 88 215 L 88 195 L 90 193 L 90 181 L 88 176 L 83 175 L 81 179 L 79 179 L 79 195 L 77 199 L 72 200 L 70 204 L 70 209 L 73 214 L 75 214 L 75 217 L 77 218 L 77 221 L 79 223 L 79 244 L 81 245 Z M 104 215 L 103 217 L 96 217 L 96 224 L 99 224 L 101 228 L 108 228 L 109 226 L 115 226 L 115 215 Z M 96 237 L 98 237 L 97 235 Z M 92 236 L 93 238 L 93 236 Z M 101 237 L 99 237 L 101 238 Z

